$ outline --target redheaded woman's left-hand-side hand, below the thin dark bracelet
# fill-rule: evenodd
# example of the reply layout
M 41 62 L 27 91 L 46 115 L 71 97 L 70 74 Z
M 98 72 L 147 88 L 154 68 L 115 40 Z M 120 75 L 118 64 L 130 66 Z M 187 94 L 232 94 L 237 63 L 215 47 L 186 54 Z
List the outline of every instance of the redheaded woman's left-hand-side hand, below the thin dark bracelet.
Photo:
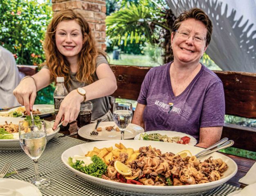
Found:
M 36 84 L 33 78 L 27 77 L 20 81 L 20 84 L 13 90 L 13 94 L 21 105 L 25 106 L 26 112 L 30 115 L 36 99 Z

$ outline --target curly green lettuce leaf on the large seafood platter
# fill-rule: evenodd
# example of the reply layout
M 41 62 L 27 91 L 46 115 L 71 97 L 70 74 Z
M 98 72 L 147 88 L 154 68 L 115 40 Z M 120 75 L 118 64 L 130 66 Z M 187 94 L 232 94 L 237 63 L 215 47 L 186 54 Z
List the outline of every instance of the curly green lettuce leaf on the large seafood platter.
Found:
M 72 162 L 72 158 L 68 158 L 68 163 L 71 167 L 78 171 L 82 171 L 85 174 L 88 174 L 90 176 L 95 176 L 98 178 L 101 178 L 103 174 L 107 171 L 107 165 L 103 162 L 101 158 L 94 155 L 92 156 L 92 162 L 90 165 L 83 166 L 83 161 L 76 160 L 76 163 Z

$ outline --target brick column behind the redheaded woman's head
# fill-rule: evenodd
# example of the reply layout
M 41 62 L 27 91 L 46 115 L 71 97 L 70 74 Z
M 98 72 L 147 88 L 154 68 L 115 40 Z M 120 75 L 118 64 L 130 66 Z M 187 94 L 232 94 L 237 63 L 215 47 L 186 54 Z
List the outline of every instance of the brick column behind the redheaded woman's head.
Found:
M 52 0 L 52 11 L 54 13 L 63 9 L 74 9 L 79 11 L 89 23 L 97 46 L 106 50 L 106 1 L 105 0 Z

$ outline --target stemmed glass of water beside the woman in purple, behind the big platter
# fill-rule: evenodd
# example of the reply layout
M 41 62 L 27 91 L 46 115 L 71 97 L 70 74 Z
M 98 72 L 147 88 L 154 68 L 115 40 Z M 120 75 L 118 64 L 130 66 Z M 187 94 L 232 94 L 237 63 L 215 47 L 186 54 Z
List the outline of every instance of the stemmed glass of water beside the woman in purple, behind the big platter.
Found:
M 132 104 L 128 102 L 114 103 L 113 117 L 121 131 L 121 140 L 124 140 L 124 131 L 132 121 Z

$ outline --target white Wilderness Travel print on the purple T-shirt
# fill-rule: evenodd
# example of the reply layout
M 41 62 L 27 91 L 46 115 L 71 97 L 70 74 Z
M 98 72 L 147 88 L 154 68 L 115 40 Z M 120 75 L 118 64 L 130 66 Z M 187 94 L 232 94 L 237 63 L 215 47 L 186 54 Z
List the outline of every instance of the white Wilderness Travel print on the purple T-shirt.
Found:
M 189 121 L 192 109 L 188 106 L 186 101 L 181 101 L 178 103 L 169 100 L 170 96 L 168 94 L 153 95 L 147 98 L 147 105 L 156 105 L 159 111 L 170 115 L 173 113 L 178 114 L 184 120 Z

